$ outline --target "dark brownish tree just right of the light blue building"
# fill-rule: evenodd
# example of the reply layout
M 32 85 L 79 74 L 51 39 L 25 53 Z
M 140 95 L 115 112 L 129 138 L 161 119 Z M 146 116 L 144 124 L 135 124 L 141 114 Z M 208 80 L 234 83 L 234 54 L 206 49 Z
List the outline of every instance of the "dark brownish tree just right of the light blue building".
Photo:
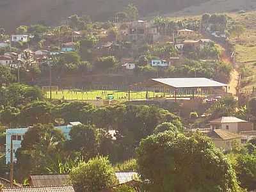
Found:
M 93 125 L 76 125 L 69 132 L 68 150 L 81 154 L 85 160 L 97 154 L 96 129 Z

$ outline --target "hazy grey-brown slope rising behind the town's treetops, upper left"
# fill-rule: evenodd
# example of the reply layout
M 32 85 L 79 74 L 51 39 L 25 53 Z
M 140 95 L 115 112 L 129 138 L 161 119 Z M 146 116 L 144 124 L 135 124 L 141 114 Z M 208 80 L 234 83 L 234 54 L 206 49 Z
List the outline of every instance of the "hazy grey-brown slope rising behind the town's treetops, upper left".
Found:
M 72 14 L 109 20 L 129 3 L 138 6 L 141 16 L 169 13 L 209 0 L 0 0 L 0 26 L 13 30 L 21 24 L 58 24 Z

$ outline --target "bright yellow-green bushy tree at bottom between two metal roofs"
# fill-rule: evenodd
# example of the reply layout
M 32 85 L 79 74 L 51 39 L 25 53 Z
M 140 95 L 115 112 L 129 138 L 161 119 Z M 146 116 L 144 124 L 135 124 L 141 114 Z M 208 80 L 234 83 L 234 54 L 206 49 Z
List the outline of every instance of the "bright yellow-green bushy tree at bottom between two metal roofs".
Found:
M 79 164 L 70 172 L 69 177 L 77 192 L 98 192 L 117 183 L 113 167 L 108 158 L 102 156 Z

